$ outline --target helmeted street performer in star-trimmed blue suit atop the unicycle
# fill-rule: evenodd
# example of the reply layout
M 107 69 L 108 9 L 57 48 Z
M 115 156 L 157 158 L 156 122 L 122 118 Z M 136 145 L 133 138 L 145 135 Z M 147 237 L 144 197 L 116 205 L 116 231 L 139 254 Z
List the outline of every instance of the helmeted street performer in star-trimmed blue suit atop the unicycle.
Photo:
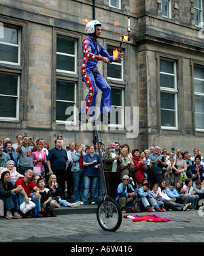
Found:
M 86 24 L 86 33 L 89 35 L 82 43 L 83 63 L 82 81 L 88 87 L 88 95 L 82 106 L 80 120 L 86 119 L 86 115 L 95 115 L 95 100 L 98 88 L 102 91 L 101 97 L 101 122 L 108 122 L 108 113 L 112 112 L 111 87 L 107 84 L 103 76 L 98 71 L 97 62 L 109 63 L 114 56 L 110 56 L 102 44 L 97 41 L 101 35 L 101 23 L 98 20 L 91 20 Z M 119 53 L 118 59 L 124 59 L 125 53 Z M 98 87 L 98 88 L 97 88 Z M 86 115 L 84 115 L 86 114 Z

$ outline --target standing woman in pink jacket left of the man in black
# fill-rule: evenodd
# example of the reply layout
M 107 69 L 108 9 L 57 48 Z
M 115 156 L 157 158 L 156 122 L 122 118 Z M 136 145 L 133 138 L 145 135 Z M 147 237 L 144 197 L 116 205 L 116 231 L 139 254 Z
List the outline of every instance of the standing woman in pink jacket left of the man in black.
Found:
M 37 143 L 37 151 L 32 153 L 33 156 L 33 175 L 40 175 L 46 180 L 45 164 L 47 162 L 46 152 L 43 151 L 43 143 Z

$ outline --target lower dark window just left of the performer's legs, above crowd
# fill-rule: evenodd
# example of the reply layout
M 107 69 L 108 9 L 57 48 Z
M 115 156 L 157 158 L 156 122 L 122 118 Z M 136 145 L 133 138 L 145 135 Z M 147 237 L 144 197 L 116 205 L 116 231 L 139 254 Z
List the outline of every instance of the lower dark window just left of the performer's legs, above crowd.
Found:
M 56 121 L 65 123 L 67 118 L 73 116 L 74 113 L 66 110 L 70 107 L 71 110 L 75 108 L 76 104 L 76 83 L 69 81 L 56 81 Z M 75 118 L 74 118 L 75 119 Z M 74 122 L 73 119 L 73 122 Z

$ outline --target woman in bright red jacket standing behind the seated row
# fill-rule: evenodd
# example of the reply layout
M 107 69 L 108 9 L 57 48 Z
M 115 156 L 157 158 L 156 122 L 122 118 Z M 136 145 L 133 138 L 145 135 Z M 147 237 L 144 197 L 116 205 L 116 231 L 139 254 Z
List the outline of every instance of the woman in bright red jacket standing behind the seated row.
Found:
M 146 171 L 146 164 L 144 160 L 139 157 L 139 154 L 139 150 L 133 150 L 133 174 L 135 175 L 135 182 L 137 188 L 141 188 L 141 182 L 145 178 L 144 171 Z

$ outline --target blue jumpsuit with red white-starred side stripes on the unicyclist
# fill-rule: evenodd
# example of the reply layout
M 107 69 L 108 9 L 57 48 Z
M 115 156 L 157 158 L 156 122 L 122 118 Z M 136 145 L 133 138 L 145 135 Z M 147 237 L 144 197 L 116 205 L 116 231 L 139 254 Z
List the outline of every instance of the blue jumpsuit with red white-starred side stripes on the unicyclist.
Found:
M 94 115 L 96 96 L 98 88 L 102 91 L 101 96 L 101 113 L 112 112 L 112 100 L 111 100 L 111 87 L 107 84 L 103 76 L 98 71 L 97 62 L 99 55 L 107 57 L 110 61 L 113 60 L 113 56 L 110 56 L 105 48 L 98 41 L 95 42 L 91 36 L 86 38 L 82 43 L 83 63 L 82 63 L 82 80 L 88 87 L 88 95 L 82 106 L 81 113 L 87 115 Z

